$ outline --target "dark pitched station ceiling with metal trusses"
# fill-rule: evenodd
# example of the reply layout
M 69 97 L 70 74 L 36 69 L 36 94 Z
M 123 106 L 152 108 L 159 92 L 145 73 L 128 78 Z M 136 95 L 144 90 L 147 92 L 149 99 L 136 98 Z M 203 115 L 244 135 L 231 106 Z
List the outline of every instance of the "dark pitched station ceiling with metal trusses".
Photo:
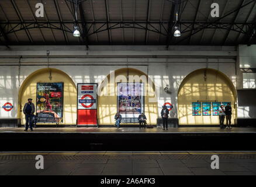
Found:
M 0 45 L 256 43 L 255 0 L 1 0 Z M 219 4 L 219 18 L 210 5 Z M 37 18 L 37 3 L 44 17 Z M 178 22 L 175 12 L 178 11 Z M 81 37 L 74 37 L 74 23 Z M 174 26 L 181 37 L 174 37 Z

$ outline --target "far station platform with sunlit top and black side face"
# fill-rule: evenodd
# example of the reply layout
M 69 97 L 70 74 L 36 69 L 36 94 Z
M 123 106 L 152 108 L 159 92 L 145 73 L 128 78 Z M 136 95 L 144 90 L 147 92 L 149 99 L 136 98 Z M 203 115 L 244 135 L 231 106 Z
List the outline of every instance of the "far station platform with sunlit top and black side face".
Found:
M 0 151 L 252 151 L 255 136 L 252 127 L 1 128 Z

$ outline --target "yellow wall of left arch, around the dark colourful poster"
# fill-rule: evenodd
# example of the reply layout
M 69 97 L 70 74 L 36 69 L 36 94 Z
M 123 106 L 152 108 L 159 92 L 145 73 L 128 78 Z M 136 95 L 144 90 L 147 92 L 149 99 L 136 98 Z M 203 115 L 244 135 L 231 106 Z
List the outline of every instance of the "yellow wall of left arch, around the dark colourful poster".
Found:
M 44 68 L 33 72 L 23 82 L 19 92 L 20 108 L 27 102 L 28 98 L 33 99 L 36 107 L 36 84 L 37 82 L 64 82 L 64 99 L 63 99 L 63 123 L 76 124 L 77 121 L 77 88 L 72 79 L 63 71 L 51 68 L 51 80 L 49 79 L 49 69 Z M 21 124 L 25 124 L 25 115 L 22 110 L 19 113 Z M 44 123 L 43 123 L 44 124 Z M 52 123 L 51 123 L 52 124 Z

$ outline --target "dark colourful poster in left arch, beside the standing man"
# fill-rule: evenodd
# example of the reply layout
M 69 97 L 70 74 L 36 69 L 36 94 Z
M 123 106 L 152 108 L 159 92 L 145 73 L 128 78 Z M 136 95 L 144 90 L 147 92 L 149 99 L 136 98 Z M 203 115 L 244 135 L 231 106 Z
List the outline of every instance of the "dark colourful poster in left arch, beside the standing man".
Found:
M 37 83 L 38 123 L 63 122 L 63 82 Z

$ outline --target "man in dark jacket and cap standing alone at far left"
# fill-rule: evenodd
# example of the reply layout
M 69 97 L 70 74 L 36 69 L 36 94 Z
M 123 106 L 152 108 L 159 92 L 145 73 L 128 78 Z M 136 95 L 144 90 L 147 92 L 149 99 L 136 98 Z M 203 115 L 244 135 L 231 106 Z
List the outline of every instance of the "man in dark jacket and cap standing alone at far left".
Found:
M 30 130 L 33 130 L 32 121 L 33 121 L 33 115 L 35 112 L 34 103 L 32 103 L 32 99 L 29 98 L 29 99 L 27 99 L 27 101 L 28 102 L 25 104 L 25 106 L 23 108 L 23 113 L 26 116 L 25 131 L 27 131 L 27 129 L 29 129 L 29 127 L 30 127 Z

